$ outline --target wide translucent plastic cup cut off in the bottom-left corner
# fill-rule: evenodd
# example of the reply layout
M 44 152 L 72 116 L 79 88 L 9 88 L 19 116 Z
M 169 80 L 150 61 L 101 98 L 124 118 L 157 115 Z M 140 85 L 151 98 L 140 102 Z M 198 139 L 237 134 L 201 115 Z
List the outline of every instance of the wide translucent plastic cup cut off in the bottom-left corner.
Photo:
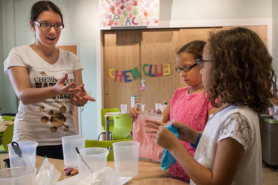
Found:
M 0 170 L 0 184 L 5 185 L 35 185 L 36 171 L 34 167 L 13 167 Z

